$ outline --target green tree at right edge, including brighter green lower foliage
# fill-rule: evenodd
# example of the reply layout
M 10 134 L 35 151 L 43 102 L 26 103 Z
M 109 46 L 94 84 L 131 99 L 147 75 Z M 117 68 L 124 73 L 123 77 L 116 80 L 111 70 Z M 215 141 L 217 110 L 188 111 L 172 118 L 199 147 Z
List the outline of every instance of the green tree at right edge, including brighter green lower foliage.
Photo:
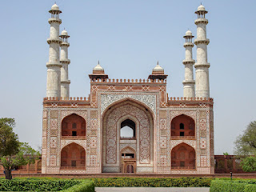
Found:
M 256 121 L 250 122 L 234 144 L 234 153 L 239 155 L 242 160 L 242 170 L 246 172 L 256 171 Z

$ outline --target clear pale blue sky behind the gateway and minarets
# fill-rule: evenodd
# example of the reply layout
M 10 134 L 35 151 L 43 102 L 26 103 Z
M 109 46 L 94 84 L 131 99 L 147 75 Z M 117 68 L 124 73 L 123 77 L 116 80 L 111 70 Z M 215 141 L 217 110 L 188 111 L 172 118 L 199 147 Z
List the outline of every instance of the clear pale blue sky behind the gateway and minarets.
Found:
M 58 0 L 70 34 L 70 96 L 90 94 L 88 74 L 100 60 L 110 78 L 147 78 L 159 61 L 170 97 L 181 97 L 182 38 L 196 34 L 194 11 L 206 18 L 215 154 L 233 154 L 234 140 L 256 120 L 255 0 Z M 21 142 L 42 142 L 50 18 L 54 1 L 1 0 L 0 117 L 15 118 Z M 194 59 L 196 49 L 194 47 Z

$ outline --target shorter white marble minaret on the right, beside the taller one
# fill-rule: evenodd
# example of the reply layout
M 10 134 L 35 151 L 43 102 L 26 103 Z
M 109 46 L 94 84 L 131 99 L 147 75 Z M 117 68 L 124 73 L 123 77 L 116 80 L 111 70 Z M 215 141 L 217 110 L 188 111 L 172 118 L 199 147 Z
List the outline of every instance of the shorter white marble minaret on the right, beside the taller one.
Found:
M 185 36 L 183 37 L 186 39 L 184 43 L 184 47 L 186 48 L 186 56 L 185 60 L 183 60 L 183 64 L 185 66 L 185 79 L 183 83 L 183 97 L 184 98 L 194 98 L 194 73 L 193 73 L 193 65 L 194 59 L 192 56 L 192 48 L 194 43 L 192 42 L 192 35 L 191 31 L 186 31 Z

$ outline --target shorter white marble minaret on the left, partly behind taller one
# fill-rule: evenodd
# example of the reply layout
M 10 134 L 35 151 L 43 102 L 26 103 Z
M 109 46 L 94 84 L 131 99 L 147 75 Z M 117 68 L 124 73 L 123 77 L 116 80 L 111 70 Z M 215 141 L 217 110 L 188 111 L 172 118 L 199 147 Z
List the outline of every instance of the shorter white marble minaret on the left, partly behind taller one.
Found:
M 70 80 L 69 80 L 69 68 L 70 59 L 68 58 L 68 47 L 70 43 L 68 42 L 68 38 L 70 37 L 67 34 L 67 31 L 62 30 L 62 34 L 60 35 L 62 38 L 61 43 L 61 57 L 60 62 L 62 63 L 61 69 L 61 97 L 62 98 L 70 98 Z

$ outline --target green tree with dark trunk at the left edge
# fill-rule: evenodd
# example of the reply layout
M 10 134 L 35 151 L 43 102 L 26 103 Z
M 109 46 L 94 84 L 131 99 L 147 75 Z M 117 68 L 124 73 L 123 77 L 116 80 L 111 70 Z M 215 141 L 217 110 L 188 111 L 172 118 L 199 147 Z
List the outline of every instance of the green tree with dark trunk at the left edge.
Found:
M 6 179 L 12 178 L 14 166 L 34 163 L 40 156 L 27 142 L 18 142 L 18 135 L 13 132 L 14 125 L 13 118 L 0 118 L 1 165 L 5 169 Z

